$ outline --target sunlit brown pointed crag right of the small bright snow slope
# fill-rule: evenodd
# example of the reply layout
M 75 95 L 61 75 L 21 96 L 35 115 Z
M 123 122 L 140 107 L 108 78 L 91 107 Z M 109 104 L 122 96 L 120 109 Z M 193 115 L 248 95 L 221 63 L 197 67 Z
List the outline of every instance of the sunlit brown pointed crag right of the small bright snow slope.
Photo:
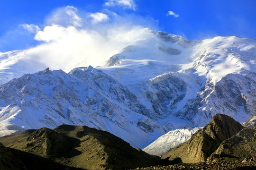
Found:
M 175 147 L 163 158 L 184 163 L 207 161 L 221 142 L 236 135 L 244 127 L 227 115 L 216 114 L 210 123 L 192 135 L 185 144 Z

